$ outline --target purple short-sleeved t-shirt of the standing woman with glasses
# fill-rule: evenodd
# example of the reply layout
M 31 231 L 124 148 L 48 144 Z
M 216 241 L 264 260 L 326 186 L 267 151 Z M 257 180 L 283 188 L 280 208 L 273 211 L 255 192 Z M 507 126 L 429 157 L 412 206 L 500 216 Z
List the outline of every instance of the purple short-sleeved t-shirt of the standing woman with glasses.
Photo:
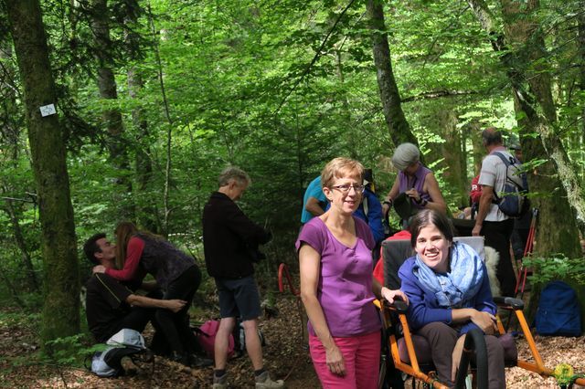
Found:
M 340 243 L 319 217 L 303 226 L 295 244 L 297 251 L 306 243 L 321 255 L 317 300 L 335 337 L 367 334 L 381 327 L 372 303 L 374 238 L 366 223 L 356 217 L 354 221 L 357 236 L 354 247 Z M 308 329 L 314 335 L 310 321 Z

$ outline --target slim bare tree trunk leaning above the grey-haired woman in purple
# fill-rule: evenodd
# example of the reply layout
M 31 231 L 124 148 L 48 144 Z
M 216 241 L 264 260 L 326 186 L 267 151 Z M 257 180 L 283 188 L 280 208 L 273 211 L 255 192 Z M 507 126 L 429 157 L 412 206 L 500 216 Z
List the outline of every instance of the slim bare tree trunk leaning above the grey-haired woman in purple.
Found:
M 378 89 L 382 100 L 382 110 L 388 125 L 390 138 L 395 145 L 403 142 L 419 144 L 416 137 L 410 131 L 409 122 L 404 116 L 400 103 L 399 88 L 392 71 L 390 47 L 384 22 L 384 5 L 380 0 L 367 0 L 367 13 L 369 15 L 369 28 L 372 30 L 372 42 L 374 46 L 374 64 L 376 65 Z M 422 159 L 422 155 L 420 155 Z

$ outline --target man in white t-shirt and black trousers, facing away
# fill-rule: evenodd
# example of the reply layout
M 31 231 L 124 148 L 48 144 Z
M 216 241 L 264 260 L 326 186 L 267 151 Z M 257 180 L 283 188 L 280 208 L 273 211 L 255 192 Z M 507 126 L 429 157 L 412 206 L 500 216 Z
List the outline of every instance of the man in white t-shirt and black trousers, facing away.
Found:
M 516 274 L 510 258 L 510 237 L 514 229 L 514 219 L 506 215 L 495 200 L 498 199 L 498 194 L 501 195 L 504 192 L 508 181 L 508 163 L 505 163 L 502 157 L 506 161 L 516 160 L 516 158 L 507 152 L 502 141 L 502 134 L 495 128 L 491 127 L 482 131 L 482 140 L 488 155 L 482 162 L 478 181 L 478 184 L 482 186 L 482 195 L 472 235 L 484 236 L 485 246 L 494 247 L 499 253 L 500 261 L 497 264 L 496 277 L 500 281 L 502 294 L 514 296 Z

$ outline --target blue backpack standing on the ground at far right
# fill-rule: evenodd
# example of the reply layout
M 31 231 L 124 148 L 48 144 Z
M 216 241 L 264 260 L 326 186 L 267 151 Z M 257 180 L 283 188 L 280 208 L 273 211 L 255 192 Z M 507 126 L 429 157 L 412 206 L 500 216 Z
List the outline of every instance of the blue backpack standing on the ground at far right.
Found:
M 540 293 L 535 324 L 539 335 L 580 336 L 581 318 L 575 290 L 563 281 L 549 282 Z

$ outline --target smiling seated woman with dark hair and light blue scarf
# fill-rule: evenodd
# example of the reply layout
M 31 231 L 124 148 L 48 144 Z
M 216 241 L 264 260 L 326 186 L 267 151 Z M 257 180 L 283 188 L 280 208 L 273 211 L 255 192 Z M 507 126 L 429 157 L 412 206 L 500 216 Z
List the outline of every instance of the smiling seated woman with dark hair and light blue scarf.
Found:
M 487 270 L 472 247 L 453 242 L 452 226 L 441 212 L 424 210 L 410 222 L 416 256 L 399 268 L 409 297 L 410 329 L 429 342 L 441 382 L 453 385 L 465 334 L 484 331 L 488 386 L 505 387 L 504 348 L 495 338 L 495 312 Z

